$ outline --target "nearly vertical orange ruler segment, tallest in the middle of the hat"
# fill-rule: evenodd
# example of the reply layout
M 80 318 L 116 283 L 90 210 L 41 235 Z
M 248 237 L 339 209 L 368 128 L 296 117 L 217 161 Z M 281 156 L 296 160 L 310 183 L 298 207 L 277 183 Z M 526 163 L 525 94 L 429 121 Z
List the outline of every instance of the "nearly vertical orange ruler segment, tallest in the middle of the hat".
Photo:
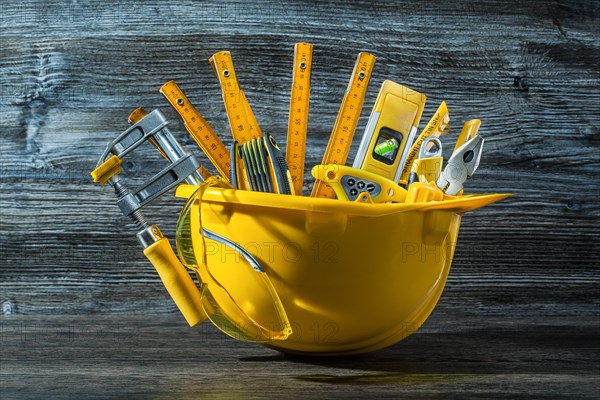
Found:
M 304 181 L 312 49 L 313 45 L 310 43 L 296 43 L 294 46 L 294 74 L 292 77 L 285 160 L 292 175 L 294 192 L 297 195 L 302 195 L 302 183 Z

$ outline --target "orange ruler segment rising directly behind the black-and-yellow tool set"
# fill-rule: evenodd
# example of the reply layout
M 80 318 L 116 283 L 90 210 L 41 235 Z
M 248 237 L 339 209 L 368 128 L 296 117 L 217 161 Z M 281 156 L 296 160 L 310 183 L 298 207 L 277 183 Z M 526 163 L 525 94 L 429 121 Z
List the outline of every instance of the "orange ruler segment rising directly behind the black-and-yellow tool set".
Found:
M 256 122 L 246 95 L 237 81 L 231 53 L 221 51 L 213 54 L 209 61 L 221 85 L 225 111 L 233 138 L 238 143 L 244 144 L 251 139 L 261 137 L 262 132 L 258 122 Z

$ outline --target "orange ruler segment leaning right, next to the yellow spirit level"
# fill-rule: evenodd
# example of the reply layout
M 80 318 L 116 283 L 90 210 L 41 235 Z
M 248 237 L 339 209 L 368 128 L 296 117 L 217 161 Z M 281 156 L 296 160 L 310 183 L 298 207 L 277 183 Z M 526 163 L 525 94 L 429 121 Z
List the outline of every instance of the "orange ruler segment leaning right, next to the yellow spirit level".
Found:
M 376 57 L 372 54 L 364 52 L 358 54 L 352 78 L 342 100 L 321 164 L 344 165 L 346 163 L 375 60 Z M 335 192 L 325 182 L 317 180 L 311 196 L 335 199 Z

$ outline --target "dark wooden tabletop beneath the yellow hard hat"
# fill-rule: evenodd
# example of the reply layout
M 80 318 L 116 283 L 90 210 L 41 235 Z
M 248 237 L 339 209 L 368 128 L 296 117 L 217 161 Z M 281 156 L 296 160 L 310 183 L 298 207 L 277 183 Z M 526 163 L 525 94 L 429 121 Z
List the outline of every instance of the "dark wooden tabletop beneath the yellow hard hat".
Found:
M 210 324 L 192 330 L 176 314 L 13 316 L 0 323 L 0 393 L 3 399 L 598 397 L 595 323 L 484 321 L 442 305 L 418 334 L 392 348 L 310 358 L 237 342 Z

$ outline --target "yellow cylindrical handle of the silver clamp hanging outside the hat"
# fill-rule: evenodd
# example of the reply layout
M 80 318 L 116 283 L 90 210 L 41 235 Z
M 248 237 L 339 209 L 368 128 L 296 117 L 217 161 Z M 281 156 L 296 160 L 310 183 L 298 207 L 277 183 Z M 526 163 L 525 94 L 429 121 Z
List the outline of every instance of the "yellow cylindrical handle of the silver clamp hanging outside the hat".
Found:
M 202 310 L 200 291 L 187 270 L 175 255 L 169 240 L 165 237 L 144 250 L 171 298 L 190 326 L 196 326 L 207 317 Z

